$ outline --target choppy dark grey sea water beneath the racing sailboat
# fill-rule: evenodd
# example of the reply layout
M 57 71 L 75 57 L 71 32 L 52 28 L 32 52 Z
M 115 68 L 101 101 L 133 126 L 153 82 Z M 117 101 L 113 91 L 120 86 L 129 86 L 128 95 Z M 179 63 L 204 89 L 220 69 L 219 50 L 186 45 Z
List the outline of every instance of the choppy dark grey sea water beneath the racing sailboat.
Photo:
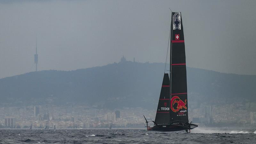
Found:
M 226 132 L 226 133 L 223 133 Z M 256 131 L 196 128 L 191 133 L 145 129 L 1 129 L 0 143 L 255 143 Z

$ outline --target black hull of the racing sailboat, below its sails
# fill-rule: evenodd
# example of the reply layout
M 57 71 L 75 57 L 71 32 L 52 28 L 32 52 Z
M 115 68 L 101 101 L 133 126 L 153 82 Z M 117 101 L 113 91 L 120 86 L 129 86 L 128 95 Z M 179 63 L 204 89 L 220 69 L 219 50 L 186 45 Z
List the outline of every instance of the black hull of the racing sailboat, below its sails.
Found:
M 148 126 L 148 131 L 159 131 L 159 132 L 173 132 L 191 130 L 196 128 L 196 124 L 157 124 Z

